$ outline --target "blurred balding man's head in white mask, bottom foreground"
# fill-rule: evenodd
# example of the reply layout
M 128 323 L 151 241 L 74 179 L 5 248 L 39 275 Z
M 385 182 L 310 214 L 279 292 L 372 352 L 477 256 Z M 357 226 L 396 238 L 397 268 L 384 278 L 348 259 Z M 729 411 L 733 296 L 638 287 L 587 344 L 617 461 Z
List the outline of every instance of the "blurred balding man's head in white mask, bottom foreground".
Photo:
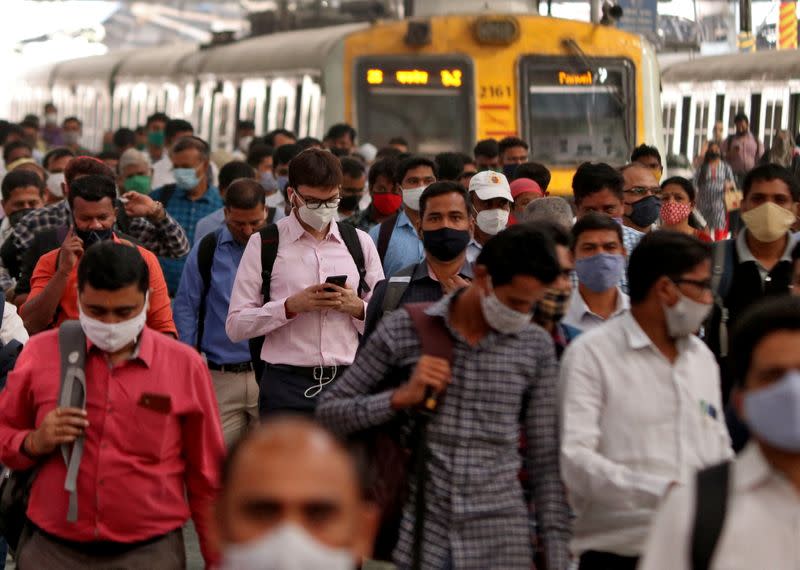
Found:
M 377 516 L 355 462 L 308 419 L 251 431 L 231 448 L 222 484 L 223 570 L 350 570 L 372 552 Z

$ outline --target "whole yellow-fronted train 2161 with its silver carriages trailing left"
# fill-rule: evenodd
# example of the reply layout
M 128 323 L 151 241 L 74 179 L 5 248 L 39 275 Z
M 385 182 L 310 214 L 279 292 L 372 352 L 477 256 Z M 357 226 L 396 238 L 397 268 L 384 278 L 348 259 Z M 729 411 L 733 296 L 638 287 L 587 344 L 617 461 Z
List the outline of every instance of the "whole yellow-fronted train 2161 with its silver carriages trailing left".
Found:
M 653 47 L 614 27 L 528 14 L 354 23 L 63 61 L 20 78 L 12 118 L 51 100 L 83 119 L 92 148 L 155 111 L 227 150 L 240 119 L 257 134 L 282 127 L 318 138 L 346 121 L 362 142 L 402 136 L 425 155 L 516 135 L 560 194 L 584 161 L 622 164 L 641 143 L 664 150 Z

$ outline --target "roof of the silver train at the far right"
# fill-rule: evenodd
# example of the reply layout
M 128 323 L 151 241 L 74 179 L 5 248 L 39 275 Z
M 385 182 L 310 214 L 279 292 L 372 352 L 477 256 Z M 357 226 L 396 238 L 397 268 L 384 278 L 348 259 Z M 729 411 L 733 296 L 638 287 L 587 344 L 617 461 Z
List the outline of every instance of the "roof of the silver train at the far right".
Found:
M 800 78 L 800 52 L 760 51 L 698 57 L 664 69 L 664 83 L 711 81 L 786 81 Z

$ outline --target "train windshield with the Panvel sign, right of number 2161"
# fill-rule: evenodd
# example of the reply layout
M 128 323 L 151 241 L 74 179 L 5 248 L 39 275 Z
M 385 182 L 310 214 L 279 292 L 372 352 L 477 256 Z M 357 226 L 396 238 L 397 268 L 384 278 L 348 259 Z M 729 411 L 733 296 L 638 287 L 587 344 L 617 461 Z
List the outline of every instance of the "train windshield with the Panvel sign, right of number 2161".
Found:
M 635 141 L 633 66 L 608 58 L 523 58 L 523 129 L 537 161 L 625 162 Z

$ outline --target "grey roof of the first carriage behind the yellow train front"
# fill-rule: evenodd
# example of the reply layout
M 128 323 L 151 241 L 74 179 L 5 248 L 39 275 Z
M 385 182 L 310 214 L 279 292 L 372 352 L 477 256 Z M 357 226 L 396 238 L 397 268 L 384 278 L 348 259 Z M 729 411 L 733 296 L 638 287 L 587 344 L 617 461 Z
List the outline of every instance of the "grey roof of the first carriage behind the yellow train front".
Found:
M 209 50 L 200 73 L 252 75 L 319 69 L 345 36 L 368 24 L 347 24 L 259 36 Z

